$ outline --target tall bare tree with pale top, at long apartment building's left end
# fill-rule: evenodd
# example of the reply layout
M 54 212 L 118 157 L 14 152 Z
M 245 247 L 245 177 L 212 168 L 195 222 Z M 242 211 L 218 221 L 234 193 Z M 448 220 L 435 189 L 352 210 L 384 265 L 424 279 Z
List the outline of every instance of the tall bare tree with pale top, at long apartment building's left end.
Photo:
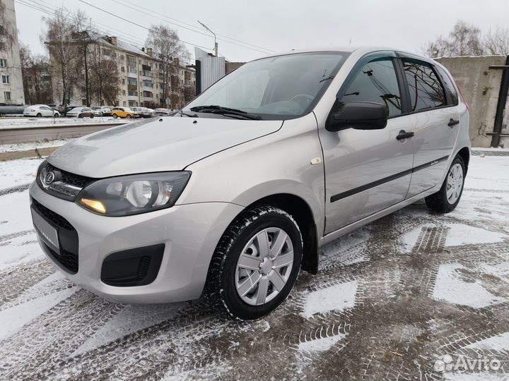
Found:
M 52 75 L 57 95 L 64 104 L 71 101 L 74 89 L 82 75 L 82 55 L 75 38 L 78 35 L 76 16 L 65 8 L 55 11 L 52 18 L 43 18 L 47 32 L 42 40 L 48 49 L 54 68 Z

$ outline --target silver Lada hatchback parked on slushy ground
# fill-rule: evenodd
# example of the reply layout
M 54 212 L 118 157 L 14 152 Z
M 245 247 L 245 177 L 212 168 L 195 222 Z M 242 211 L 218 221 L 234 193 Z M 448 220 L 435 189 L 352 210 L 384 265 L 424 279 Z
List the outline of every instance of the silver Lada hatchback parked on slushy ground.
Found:
M 122 303 L 205 295 L 239 319 L 284 301 L 318 248 L 425 198 L 450 212 L 470 156 L 447 70 L 392 49 L 246 63 L 175 116 L 68 143 L 30 186 L 42 250 Z

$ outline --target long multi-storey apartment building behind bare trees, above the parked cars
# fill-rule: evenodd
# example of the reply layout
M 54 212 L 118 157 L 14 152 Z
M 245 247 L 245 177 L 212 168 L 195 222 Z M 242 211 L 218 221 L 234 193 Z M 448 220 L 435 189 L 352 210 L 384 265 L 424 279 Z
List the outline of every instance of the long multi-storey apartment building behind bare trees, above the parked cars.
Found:
M 127 107 L 162 107 L 166 104 L 163 95 L 160 75 L 161 63 L 151 48 L 138 48 L 117 37 L 88 32 L 89 49 L 100 49 L 100 54 L 113 57 L 119 73 L 119 91 L 115 104 L 105 100 L 92 99 L 91 105 L 127 106 Z M 174 75 L 170 86 L 170 107 L 182 107 L 194 95 L 196 76 L 194 69 L 180 64 L 179 59 L 173 62 Z M 79 86 L 71 99 L 71 104 L 86 105 L 85 89 Z M 103 103 L 103 104 L 100 104 Z

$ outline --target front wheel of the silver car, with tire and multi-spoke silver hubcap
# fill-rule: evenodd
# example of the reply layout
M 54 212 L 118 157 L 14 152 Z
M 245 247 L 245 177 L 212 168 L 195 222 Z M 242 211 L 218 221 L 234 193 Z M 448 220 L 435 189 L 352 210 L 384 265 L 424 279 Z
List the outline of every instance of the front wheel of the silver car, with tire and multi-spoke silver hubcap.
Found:
M 293 289 L 302 251 L 302 236 L 290 214 L 271 206 L 245 210 L 216 247 L 206 296 L 239 320 L 267 315 Z

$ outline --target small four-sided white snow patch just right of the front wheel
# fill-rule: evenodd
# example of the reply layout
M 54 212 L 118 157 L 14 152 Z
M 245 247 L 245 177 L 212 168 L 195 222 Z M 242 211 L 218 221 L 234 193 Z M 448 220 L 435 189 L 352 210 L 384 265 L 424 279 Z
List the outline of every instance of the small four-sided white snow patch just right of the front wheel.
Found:
M 317 291 L 311 291 L 306 296 L 304 310 L 301 315 L 312 317 L 316 313 L 331 310 L 343 311 L 353 308 L 357 293 L 357 281 L 340 283 Z

